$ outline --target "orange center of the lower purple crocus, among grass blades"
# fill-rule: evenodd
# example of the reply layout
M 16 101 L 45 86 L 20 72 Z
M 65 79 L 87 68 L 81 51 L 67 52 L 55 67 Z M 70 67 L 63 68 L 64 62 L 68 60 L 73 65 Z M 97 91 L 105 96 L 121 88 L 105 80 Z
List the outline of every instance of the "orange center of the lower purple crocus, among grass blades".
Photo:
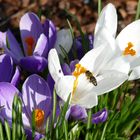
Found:
M 41 109 L 35 109 L 35 125 L 40 128 L 44 123 L 44 111 Z

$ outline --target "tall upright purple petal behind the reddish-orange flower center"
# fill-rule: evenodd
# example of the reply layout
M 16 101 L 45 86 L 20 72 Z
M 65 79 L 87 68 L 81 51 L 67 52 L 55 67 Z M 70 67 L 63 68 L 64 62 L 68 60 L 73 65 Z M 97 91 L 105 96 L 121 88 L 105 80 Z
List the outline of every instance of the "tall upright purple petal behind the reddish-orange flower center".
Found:
M 21 17 L 19 26 L 24 52 L 27 55 L 28 46 L 25 42 L 25 39 L 28 37 L 32 37 L 34 40 L 33 45 L 35 47 L 40 34 L 43 32 L 43 28 L 39 18 L 32 12 L 28 12 Z

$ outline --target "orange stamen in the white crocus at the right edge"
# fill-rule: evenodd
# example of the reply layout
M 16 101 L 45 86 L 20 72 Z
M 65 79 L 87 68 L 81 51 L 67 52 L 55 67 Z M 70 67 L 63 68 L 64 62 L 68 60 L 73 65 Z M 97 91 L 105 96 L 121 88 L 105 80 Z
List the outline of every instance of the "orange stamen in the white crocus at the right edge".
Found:
M 134 45 L 131 42 L 129 42 L 127 47 L 123 51 L 123 55 L 131 55 L 131 56 L 136 55 L 136 51 L 134 49 L 132 49 L 133 47 L 134 47 Z

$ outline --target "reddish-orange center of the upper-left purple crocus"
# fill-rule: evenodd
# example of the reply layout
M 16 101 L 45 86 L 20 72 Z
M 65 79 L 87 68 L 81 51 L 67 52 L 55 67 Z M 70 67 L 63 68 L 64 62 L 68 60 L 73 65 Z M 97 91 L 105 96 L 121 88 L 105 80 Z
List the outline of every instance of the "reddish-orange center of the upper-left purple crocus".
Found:
M 33 54 L 33 49 L 34 49 L 34 39 L 33 37 L 27 37 L 25 38 L 25 42 L 27 43 L 27 54 L 31 56 Z

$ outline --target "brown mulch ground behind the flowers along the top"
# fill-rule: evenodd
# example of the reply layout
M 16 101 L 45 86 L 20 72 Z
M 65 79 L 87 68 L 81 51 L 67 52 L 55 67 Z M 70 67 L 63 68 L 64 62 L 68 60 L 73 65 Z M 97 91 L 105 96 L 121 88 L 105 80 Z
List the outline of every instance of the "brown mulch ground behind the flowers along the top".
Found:
M 10 28 L 17 31 L 20 17 L 27 11 L 35 13 L 42 12 L 41 20 L 46 18 L 53 20 L 59 27 L 68 26 L 64 9 L 76 15 L 82 30 L 91 33 L 94 30 L 98 13 L 97 0 L 0 0 L 0 30 L 5 31 Z M 119 15 L 119 29 L 124 28 L 134 20 L 137 0 L 102 0 L 102 6 L 111 2 L 115 4 Z M 76 23 L 70 19 L 76 34 L 79 34 Z M 17 32 L 16 32 L 17 33 Z

